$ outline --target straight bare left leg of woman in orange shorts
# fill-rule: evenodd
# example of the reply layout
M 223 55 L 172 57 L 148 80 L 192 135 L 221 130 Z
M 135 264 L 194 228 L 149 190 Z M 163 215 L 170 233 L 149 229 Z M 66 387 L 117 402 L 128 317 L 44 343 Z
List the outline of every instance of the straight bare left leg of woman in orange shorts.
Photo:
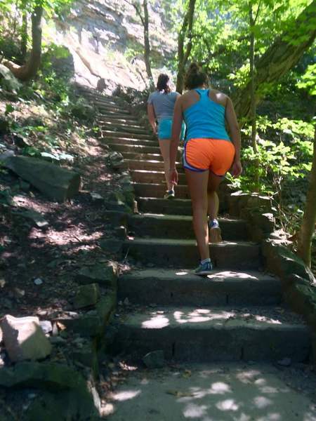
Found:
M 209 228 L 207 226 L 207 183 L 209 171 L 197 173 L 185 170 L 193 210 L 193 228 L 201 260 L 209 258 Z

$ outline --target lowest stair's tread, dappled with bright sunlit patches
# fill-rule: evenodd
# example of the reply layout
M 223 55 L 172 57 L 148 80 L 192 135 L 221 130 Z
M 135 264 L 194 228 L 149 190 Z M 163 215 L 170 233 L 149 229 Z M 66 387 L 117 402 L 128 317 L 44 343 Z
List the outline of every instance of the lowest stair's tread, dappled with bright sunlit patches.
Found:
M 139 310 L 125 314 L 126 326 L 140 329 L 205 329 L 209 328 L 259 328 L 289 330 L 295 326 L 308 333 L 301 316 L 283 307 L 248 306 L 248 307 L 193 307 L 193 306 L 143 306 Z

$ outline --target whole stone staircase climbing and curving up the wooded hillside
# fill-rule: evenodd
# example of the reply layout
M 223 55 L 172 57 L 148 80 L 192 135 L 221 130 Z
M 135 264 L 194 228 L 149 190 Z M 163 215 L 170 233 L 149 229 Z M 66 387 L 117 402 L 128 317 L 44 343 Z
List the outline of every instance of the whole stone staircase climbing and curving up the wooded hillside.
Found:
M 162 199 L 157 140 L 121 102 L 84 94 L 98 107 L 103 141 L 124 156 L 140 211 L 128 216 L 124 255 L 143 269 L 119 279 L 119 300 L 131 306 L 114 352 L 140 359 L 163 349 L 166 359 L 197 362 L 308 360 L 308 328 L 282 306 L 281 283 L 263 271 L 261 246 L 249 241 L 246 222 L 221 218 L 223 242 L 210 245 L 214 272 L 193 275 L 198 254 L 185 174 L 179 171 L 176 199 Z

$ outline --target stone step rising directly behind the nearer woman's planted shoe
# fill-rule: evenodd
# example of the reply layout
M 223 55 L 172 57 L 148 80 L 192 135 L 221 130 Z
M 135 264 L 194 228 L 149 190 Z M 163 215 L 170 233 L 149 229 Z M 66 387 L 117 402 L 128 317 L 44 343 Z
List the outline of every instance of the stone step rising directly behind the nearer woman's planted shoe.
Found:
M 258 269 L 261 253 L 258 244 L 247 241 L 210 243 L 210 255 L 215 268 Z M 143 263 L 159 267 L 196 267 L 199 253 L 195 240 L 187 239 L 128 239 L 124 254 Z

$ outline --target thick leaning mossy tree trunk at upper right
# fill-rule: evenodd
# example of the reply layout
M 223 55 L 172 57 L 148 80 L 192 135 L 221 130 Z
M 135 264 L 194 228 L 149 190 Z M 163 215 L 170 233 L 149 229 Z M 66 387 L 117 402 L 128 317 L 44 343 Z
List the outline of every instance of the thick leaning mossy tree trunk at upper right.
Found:
M 264 96 L 265 85 L 275 83 L 284 76 L 312 45 L 316 36 L 315 25 L 311 24 L 315 21 L 315 8 L 316 0 L 312 1 L 312 4 L 298 16 L 295 29 L 291 32 L 284 32 L 282 36 L 279 36 L 258 60 L 254 77 L 256 104 Z M 238 118 L 249 118 L 251 113 L 251 81 L 234 95 L 233 100 Z

